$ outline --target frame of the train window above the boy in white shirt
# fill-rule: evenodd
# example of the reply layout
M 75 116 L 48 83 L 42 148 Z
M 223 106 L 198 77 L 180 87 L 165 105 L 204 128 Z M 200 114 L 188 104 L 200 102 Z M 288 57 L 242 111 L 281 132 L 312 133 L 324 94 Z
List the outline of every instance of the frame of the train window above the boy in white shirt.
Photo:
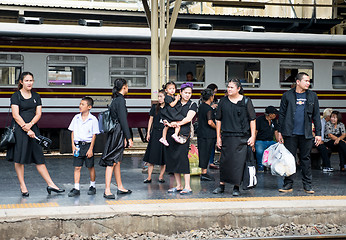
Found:
M 85 62 L 63 62 L 63 61 L 59 61 L 59 62 L 53 62 L 52 64 L 49 62 L 49 57 L 50 56 L 59 56 L 59 57 L 84 57 L 85 58 Z M 67 66 L 68 65 L 68 66 Z M 50 85 L 49 84 L 49 67 L 85 67 L 85 84 L 84 85 L 74 85 L 74 84 L 69 84 L 69 85 Z M 75 88 L 75 87 L 87 87 L 89 84 L 88 81 L 88 57 L 85 55 L 67 55 L 67 54 L 50 54 L 47 55 L 46 57 L 46 73 L 47 73 L 47 77 L 46 77 L 46 84 L 49 87 L 56 87 L 56 88 Z

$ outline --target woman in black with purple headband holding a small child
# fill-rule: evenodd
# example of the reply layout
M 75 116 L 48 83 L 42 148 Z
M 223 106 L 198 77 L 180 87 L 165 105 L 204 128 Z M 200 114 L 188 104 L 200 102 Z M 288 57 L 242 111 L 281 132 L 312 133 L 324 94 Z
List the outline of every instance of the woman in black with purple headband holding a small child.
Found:
M 191 121 L 196 115 L 197 104 L 190 100 L 192 96 L 192 83 L 184 83 L 181 85 L 181 114 L 184 119 L 179 122 L 172 122 L 172 127 L 180 126 L 180 134 L 187 138 L 184 144 L 177 143 L 172 137 L 168 137 L 167 141 L 169 147 L 164 148 L 164 156 L 166 160 L 166 172 L 174 173 L 175 180 L 177 182 L 176 187 L 170 188 L 169 193 L 180 192 L 180 194 L 191 194 L 190 187 L 190 165 L 188 159 L 188 152 L 190 146 L 190 130 Z M 167 136 L 172 136 L 174 128 L 168 129 Z M 181 174 L 184 174 L 185 187 L 181 184 Z

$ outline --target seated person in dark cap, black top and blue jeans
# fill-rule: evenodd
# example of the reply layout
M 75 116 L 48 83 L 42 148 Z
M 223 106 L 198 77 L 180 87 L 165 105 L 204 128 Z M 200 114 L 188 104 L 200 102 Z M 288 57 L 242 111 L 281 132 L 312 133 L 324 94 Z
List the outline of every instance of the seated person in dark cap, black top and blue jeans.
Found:
M 263 172 L 262 156 L 264 150 L 275 143 L 275 138 L 278 139 L 278 129 L 276 115 L 278 110 L 273 106 L 268 106 L 265 113 L 256 119 L 256 158 L 257 158 L 257 171 Z

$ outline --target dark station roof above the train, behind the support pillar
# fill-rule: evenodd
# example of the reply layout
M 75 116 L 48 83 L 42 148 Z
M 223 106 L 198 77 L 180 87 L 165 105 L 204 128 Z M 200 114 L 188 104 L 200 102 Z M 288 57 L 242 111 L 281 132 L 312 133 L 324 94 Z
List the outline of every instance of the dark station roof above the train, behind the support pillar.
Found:
M 42 0 L 40 1 L 42 2 Z M 78 3 L 78 1 L 76 2 Z M 115 10 L 115 8 L 96 8 L 92 7 L 92 5 L 90 6 L 83 8 L 78 8 L 77 5 L 73 4 L 66 6 L 53 4 L 46 6 L 37 5 L 37 1 L 33 1 L 31 4 L 20 5 L 13 2 L 13 0 L 4 0 L 0 3 L 0 16 L 2 16 L 0 21 L 16 22 L 18 16 L 21 15 L 42 17 L 44 23 L 50 24 L 74 25 L 77 24 L 78 19 L 98 19 L 103 20 L 104 26 L 147 27 L 147 20 L 143 11 Z M 267 32 L 319 34 L 328 33 L 333 26 L 341 22 L 342 19 L 273 18 L 181 13 L 178 16 L 176 28 L 188 28 L 188 25 L 191 23 L 208 23 L 213 25 L 215 30 L 239 31 L 244 25 L 256 25 L 265 27 Z

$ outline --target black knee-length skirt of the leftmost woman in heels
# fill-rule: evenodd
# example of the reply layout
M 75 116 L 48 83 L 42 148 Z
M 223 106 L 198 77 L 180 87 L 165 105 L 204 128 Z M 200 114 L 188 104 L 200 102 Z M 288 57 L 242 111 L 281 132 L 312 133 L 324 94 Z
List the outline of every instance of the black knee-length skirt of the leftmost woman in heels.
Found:
M 7 150 L 6 159 L 20 164 L 45 164 L 42 147 L 37 140 L 29 137 L 17 123 L 13 122 L 12 124 L 15 124 L 16 143 Z M 40 135 L 36 124 L 32 126 L 31 130 L 36 136 Z

